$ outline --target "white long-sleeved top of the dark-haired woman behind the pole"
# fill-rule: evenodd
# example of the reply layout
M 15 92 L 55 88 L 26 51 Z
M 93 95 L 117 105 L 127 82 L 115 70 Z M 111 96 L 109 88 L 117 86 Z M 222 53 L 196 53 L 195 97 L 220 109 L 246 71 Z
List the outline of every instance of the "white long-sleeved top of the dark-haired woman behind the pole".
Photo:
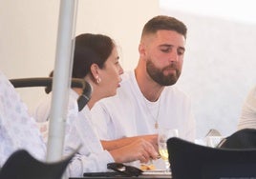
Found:
M 51 97 L 42 100 L 35 109 L 33 115 L 44 134 L 48 133 L 48 123 L 51 107 Z M 107 164 L 114 162 L 111 154 L 101 146 L 91 121 L 91 111 L 85 106 L 78 112 L 78 94 L 75 90 L 70 90 L 68 117 L 64 142 L 64 155 L 73 153 L 79 146 L 81 148 L 75 154 L 72 163 L 68 168 L 68 175 L 72 177 L 82 177 L 84 172 L 107 171 Z M 47 135 L 46 135 L 47 137 Z

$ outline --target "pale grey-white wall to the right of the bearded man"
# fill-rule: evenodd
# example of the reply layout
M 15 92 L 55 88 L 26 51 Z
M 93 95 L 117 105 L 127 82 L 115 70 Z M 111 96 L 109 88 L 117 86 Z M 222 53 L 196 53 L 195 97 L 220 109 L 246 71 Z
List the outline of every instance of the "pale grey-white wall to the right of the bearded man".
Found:
M 198 137 L 209 129 L 233 133 L 245 95 L 256 85 L 256 22 L 161 8 L 188 28 L 178 85 L 192 97 Z

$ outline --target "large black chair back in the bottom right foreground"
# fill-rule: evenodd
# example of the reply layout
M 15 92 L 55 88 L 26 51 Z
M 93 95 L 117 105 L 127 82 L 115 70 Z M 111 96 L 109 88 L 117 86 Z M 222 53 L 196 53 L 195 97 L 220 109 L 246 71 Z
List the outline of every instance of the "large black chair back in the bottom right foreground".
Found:
M 173 179 L 256 177 L 256 149 L 215 149 L 175 137 L 167 148 Z

